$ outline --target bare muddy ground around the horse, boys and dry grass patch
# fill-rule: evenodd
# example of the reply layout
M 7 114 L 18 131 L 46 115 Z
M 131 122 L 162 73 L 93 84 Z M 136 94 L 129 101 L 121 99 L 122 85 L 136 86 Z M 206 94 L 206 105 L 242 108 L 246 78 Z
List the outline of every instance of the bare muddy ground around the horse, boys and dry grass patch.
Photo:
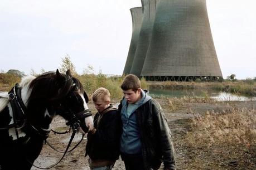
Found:
M 244 148 L 239 145 L 235 146 L 213 146 L 211 148 L 200 148 L 191 150 L 184 143 L 187 133 L 187 122 L 194 114 L 204 114 L 207 110 L 221 112 L 230 108 L 256 108 L 256 101 L 229 101 L 218 103 L 184 103 L 180 109 L 171 112 L 167 99 L 157 99 L 165 111 L 168 125 L 173 134 L 173 143 L 175 145 L 177 169 L 256 169 L 256 149 L 250 152 L 244 152 Z M 118 102 L 118 100 L 116 101 Z M 93 105 L 89 103 L 89 108 Z M 95 113 L 95 110 L 94 110 Z M 56 118 L 52 123 L 52 129 L 64 130 L 65 122 L 61 118 Z M 54 147 L 65 150 L 69 142 L 71 134 L 55 135 L 51 134 L 49 142 Z M 77 135 L 73 142 L 74 144 L 80 140 L 81 134 Z M 78 148 L 71 153 L 67 153 L 65 158 L 51 168 L 62 170 L 79 170 L 89 169 L 88 157 L 85 155 L 86 137 Z M 231 153 L 232 152 L 232 153 Z M 235 153 L 235 154 L 234 154 Z M 237 153 L 237 154 L 236 154 Z M 45 144 L 40 156 L 35 161 L 35 164 L 40 167 L 49 167 L 59 161 L 62 153 L 58 153 L 49 145 Z M 38 169 L 33 167 L 33 170 Z M 125 169 L 124 164 L 120 159 L 115 163 L 113 169 Z M 161 168 L 163 169 L 163 167 Z

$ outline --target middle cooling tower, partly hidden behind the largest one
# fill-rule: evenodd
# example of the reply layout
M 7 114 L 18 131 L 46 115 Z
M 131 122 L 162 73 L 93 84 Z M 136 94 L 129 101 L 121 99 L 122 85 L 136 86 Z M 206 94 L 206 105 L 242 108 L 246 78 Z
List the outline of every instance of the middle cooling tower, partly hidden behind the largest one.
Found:
M 160 0 L 141 0 L 142 2 L 142 25 L 139 32 L 139 40 L 133 59 L 131 74 L 141 76 L 141 70 L 144 59 L 147 54 L 149 41 L 151 40 L 154 17 L 156 14 L 156 6 Z

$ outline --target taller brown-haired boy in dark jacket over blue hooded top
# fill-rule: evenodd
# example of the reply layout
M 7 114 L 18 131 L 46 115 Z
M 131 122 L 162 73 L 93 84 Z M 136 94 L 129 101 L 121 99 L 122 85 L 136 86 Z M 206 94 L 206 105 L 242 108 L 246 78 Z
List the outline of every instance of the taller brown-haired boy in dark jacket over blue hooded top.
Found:
M 171 131 L 156 100 L 141 89 L 136 75 L 124 77 L 124 98 L 119 105 L 122 119 L 120 152 L 126 170 L 175 170 Z

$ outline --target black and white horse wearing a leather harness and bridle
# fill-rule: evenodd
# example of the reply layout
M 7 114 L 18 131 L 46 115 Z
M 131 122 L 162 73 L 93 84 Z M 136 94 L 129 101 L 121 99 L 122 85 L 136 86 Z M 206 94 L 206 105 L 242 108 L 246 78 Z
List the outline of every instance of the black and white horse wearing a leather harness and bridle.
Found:
M 57 70 L 27 76 L 9 93 L 1 93 L 0 169 L 31 169 L 55 115 L 71 125 L 79 122 L 84 131 L 93 127 L 87 102 L 83 86 L 69 70 L 66 75 Z

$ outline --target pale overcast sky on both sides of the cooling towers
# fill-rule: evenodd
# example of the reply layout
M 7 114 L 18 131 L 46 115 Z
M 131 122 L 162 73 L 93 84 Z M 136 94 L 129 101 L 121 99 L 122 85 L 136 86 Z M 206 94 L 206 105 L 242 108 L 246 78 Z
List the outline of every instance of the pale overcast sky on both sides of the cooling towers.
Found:
M 121 75 L 132 36 L 130 8 L 141 0 L 1 0 L 0 70 L 29 74 L 56 70 L 71 57 L 81 74 Z M 207 9 L 224 78 L 256 76 L 254 0 L 207 0 Z

